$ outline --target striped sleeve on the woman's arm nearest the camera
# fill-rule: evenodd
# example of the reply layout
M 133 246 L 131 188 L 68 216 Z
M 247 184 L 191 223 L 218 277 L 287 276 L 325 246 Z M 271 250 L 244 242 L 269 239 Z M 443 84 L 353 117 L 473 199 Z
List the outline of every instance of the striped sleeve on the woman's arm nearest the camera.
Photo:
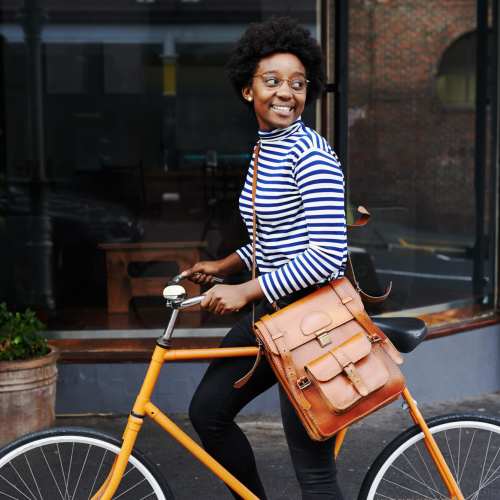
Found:
M 344 176 L 337 158 L 321 149 L 304 151 L 294 165 L 309 236 L 306 250 L 259 276 L 269 302 L 341 276 L 347 260 Z

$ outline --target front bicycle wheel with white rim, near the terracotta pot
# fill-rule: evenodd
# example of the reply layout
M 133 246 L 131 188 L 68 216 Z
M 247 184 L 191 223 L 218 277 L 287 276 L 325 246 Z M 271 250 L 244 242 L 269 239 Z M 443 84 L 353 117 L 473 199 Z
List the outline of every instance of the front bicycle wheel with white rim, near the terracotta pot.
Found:
M 121 441 L 84 428 L 25 436 L 0 451 L 0 498 L 88 500 L 104 482 Z M 157 468 L 134 450 L 113 498 L 172 499 Z

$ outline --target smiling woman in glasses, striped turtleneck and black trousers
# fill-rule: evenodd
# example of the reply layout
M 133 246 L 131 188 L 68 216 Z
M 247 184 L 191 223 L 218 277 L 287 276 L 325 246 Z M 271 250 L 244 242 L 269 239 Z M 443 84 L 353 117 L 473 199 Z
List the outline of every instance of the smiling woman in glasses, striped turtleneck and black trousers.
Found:
M 259 126 L 256 261 L 259 277 L 238 285 L 216 285 L 201 306 L 226 314 L 252 301 L 256 318 L 289 304 L 343 274 L 347 255 L 344 182 L 337 156 L 325 139 L 301 121 L 306 104 L 318 97 L 322 55 L 310 33 L 290 18 L 251 25 L 227 65 L 243 102 Z M 239 200 L 252 239 L 253 161 Z M 198 262 L 184 272 L 210 283 L 252 267 L 252 244 L 216 261 Z M 227 334 L 223 347 L 255 345 L 252 314 Z M 233 383 L 253 360 L 219 359 L 209 366 L 190 406 L 190 418 L 204 447 L 259 498 L 266 498 L 252 449 L 234 422 L 253 398 L 276 383 L 266 361 L 240 389 Z M 283 426 L 304 499 L 342 498 L 336 482 L 332 441 L 309 439 L 280 389 Z

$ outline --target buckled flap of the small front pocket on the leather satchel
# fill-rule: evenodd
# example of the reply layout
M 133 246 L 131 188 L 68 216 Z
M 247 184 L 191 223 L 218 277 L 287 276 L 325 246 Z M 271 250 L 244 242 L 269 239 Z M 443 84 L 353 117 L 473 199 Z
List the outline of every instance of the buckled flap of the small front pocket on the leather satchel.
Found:
M 311 361 L 305 366 L 318 382 L 328 382 L 343 371 L 343 367 L 368 356 L 371 343 L 363 332 L 357 333 L 335 349 Z

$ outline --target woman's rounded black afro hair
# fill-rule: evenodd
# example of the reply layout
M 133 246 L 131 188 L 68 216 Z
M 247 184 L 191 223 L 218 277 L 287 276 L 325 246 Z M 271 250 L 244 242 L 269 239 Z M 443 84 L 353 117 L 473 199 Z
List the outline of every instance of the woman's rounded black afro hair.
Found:
M 238 41 L 226 64 L 226 73 L 237 94 L 250 85 L 259 61 L 277 53 L 294 54 L 309 80 L 306 104 L 315 101 L 325 81 L 323 55 L 311 33 L 290 17 L 273 17 L 252 23 Z M 248 104 L 248 103 L 247 103 Z

